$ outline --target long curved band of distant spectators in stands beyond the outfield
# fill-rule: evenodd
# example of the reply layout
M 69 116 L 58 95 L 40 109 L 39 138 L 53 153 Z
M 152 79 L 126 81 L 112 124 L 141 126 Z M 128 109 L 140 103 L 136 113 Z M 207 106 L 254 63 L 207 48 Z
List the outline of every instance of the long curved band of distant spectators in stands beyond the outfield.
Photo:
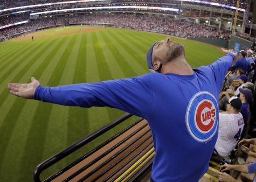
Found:
M 164 16 L 148 16 L 139 13 L 114 13 L 108 15 L 71 16 L 58 18 L 43 18 L 31 20 L 29 23 L 14 26 L 0 31 L 2 40 L 6 40 L 13 34 L 25 31 L 38 30 L 43 27 L 69 25 L 69 24 L 107 24 L 109 26 L 136 29 L 144 31 L 153 31 L 170 34 L 182 38 L 213 38 L 227 39 L 230 32 L 219 30 L 215 26 L 197 24 L 187 20 L 173 19 Z

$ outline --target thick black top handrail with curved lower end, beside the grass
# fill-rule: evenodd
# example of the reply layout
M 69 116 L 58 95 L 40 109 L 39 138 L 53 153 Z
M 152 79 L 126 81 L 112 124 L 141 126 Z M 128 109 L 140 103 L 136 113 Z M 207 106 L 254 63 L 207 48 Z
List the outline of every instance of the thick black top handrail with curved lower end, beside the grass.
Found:
M 63 151 L 57 153 L 56 155 L 52 156 L 51 158 L 45 160 L 43 163 L 39 164 L 35 171 L 34 171 L 34 181 L 41 182 L 40 180 L 40 174 L 52 166 L 53 164 L 56 164 L 61 159 L 65 158 L 66 156 L 70 155 L 72 152 L 80 149 L 82 146 L 86 145 L 87 143 L 93 141 L 93 139 L 99 137 L 100 135 L 104 134 L 108 130 L 114 128 L 116 125 L 122 123 L 123 121 L 127 120 L 129 117 L 132 117 L 132 114 L 125 114 L 124 116 L 118 118 L 117 120 L 113 121 L 112 123 L 107 124 L 105 127 L 102 127 L 101 129 L 95 131 L 93 134 L 88 135 L 87 137 L 81 139 L 80 141 L 74 143 L 73 145 L 69 146 L 67 149 L 64 149 Z

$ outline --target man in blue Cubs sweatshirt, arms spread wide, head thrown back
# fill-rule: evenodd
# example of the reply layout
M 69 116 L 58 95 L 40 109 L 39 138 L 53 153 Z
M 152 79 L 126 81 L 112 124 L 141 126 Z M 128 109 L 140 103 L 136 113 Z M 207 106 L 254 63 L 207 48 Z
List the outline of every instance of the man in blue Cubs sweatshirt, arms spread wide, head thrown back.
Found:
M 155 157 L 152 181 L 198 181 L 207 171 L 218 137 L 218 95 L 233 51 L 209 66 L 192 69 L 183 44 L 169 37 L 147 54 L 148 73 L 128 79 L 43 87 L 9 83 L 10 93 L 65 106 L 113 107 L 145 118 Z

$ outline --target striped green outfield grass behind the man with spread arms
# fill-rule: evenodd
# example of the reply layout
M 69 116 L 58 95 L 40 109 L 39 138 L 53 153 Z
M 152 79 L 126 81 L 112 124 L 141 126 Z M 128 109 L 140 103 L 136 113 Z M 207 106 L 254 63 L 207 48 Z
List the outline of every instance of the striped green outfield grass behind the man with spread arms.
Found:
M 107 28 L 82 33 L 79 29 L 80 26 L 73 26 L 44 30 L 33 33 L 33 41 L 15 38 L 0 43 L 0 181 L 32 181 L 34 168 L 43 160 L 124 114 L 106 107 L 64 107 L 20 99 L 9 94 L 9 82 L 29 82 L 34 76 L 43 86 L 58 86 L 142 75 L 149 72 L 149 47 L 166 37 L 134 30 Z M 88 27 L 83 26 L 85 29 Z M 57 36 L 68 31 L 77 33 Z M 224 55 L 215 46 L 172 39 L 184 44 L 185 58 L 192 67 L 208 65 Z M 52 170 L 60 169 L 100 142 L 101 139 Z

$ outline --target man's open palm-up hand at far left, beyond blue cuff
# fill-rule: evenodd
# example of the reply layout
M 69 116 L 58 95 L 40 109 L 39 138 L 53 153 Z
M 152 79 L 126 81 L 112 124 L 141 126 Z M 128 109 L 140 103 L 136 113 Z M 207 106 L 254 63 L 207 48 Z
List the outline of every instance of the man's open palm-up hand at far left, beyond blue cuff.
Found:
M 31 83 L 8 83 L 8 88 L 12 95 L 25 99 L 34 99 L 34 92 L 36 92 L 39 85 L 39 81 L 32 77 Z

